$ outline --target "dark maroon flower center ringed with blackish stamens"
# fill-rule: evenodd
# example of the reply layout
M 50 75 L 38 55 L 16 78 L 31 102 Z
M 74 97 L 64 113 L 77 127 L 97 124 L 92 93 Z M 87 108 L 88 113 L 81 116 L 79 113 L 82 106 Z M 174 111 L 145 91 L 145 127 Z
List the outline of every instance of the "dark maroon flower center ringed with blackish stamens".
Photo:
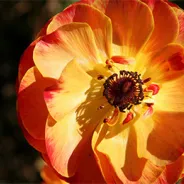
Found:
M 140 74 L 121 70 L 119 75 L 114 73 L 105 81 L 103 95 L 111 105 L 125 112 L 144 99 L 142 85 Z

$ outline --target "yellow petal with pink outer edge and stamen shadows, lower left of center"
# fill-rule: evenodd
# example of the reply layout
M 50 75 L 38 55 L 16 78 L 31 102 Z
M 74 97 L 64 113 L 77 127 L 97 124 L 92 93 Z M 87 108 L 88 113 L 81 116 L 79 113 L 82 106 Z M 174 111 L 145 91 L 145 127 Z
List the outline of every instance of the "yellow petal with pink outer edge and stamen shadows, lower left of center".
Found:
M 84 145 L 90 139 L 99 120 L 107 109 L 98 110 L 105 102 L 88 96 L 76 110 L 66 114 L 60 121 L 48 118 L 46 126 L 46 148 L 52 166 L 62 176 L 75 174 Z M 93 116 L 95 114 L 95 116 Z

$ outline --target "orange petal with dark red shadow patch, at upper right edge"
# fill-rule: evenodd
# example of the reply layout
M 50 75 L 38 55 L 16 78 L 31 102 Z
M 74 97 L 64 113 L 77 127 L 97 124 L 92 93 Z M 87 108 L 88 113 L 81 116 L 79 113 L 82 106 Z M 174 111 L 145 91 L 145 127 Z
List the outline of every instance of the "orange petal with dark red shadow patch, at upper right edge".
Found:
M 141 70 L 141 68 L 146 67 L 143 78 L 151 77 L 153 82 L 163 83 L 168 80 L 174 80 L 184 74 L 184 48 L 181 45 L 169 44 L 151 59 L 148 59 L 146 63 L 141 62 L 143 59 L 146 58 L 139 59 L 137 68 Z

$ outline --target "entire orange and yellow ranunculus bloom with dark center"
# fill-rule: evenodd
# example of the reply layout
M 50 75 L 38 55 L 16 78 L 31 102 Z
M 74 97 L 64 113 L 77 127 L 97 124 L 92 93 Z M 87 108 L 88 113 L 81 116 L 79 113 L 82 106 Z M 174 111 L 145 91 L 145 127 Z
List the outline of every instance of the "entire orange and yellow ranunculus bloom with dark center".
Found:
M 81 0 L 54 16 L 17 80 L 20 126 L 49 165 L 45 181 L 175 183 L 183 46 L 184 12 L 166 0 Z

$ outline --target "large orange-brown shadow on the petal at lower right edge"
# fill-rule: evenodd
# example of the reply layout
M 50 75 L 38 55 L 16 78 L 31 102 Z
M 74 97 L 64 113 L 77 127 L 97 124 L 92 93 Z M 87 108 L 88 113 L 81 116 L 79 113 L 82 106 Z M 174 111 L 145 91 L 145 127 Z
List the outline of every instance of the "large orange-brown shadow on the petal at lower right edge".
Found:
M 147 150 L 161 160 L 175 161 L 184 151 L 184 113 L 158 111 Z

